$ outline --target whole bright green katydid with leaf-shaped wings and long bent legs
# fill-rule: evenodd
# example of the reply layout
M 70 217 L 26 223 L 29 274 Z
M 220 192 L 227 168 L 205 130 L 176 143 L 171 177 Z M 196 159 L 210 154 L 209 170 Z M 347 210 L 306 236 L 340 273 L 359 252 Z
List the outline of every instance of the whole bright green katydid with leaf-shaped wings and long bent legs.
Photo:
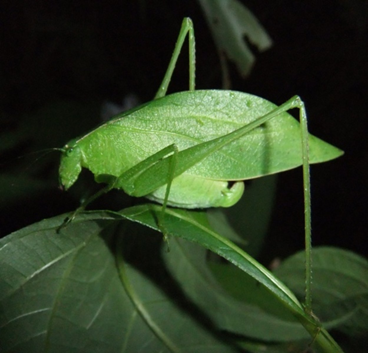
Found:
M 189 90 L 166 96 L 187 34 Z M 287 113 L 291 108 L 299 108 L 301 124 Z M 82 168 L 88 168 L 96 182 L 107 184 L 79 209 L 118 188 L 162 203 L 162 217 L 166 205 L 232 206 L 243 194 L 244 179 L 303 165 L 307 233 L 309 163 L 342 154 L 308 134 L 304 103 L 297 96 L 277 107 L 248 93 L 195 90 L 195 40 L 189 18 L 183 21 L 155 99 L 71 140 L 62 150 L 59 172 L 65 189 L 74 184 Z

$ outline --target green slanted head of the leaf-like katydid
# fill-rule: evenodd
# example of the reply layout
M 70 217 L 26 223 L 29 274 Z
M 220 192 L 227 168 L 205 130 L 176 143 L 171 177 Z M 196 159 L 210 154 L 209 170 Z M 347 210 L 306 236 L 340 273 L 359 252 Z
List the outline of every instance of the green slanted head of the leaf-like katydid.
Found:
M 59 180 L 61 187 L 69 189 L 77 181 L 81 166 L 82 152 L 75 140 L 68 142 L 61 154 Z

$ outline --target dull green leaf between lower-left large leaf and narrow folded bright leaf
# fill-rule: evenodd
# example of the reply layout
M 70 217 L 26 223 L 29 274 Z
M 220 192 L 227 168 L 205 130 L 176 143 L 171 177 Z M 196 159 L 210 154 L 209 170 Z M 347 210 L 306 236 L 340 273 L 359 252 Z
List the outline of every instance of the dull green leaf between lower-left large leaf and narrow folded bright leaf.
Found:
M 308 338 L 308 332 L 300 322 L 255 279 L 231 264 L 210 262 L 210 268 L 217 274 L 223 271 L 232 289 L 239 286 L 239 291 L 246 291 L 244 295 L 247 298 L 239 300 L 217 282 L 208 267 L 206 249 L 178 238 L 171 238 L 169 244 L 170 252 L 164 256 L 170 273 L 179 283 L 185 284 L 183 290 L 186 295 L 205 311 L 216 326 L 264 341 L 290 342 Z

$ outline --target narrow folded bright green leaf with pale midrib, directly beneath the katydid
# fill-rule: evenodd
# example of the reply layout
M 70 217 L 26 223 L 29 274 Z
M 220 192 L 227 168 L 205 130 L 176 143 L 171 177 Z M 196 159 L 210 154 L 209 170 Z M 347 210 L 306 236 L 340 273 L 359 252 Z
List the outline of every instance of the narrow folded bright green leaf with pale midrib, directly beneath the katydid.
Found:
M 157 229 L 156 220 L 160 211 L 160 206 L 146 204 L 125 209 L 121 214 L 128 219 Z M 293 293 L 279 279 L 243 250 L 209 228 L 204 213 L 167 209 L 163 226 L 169 234 L 200 244 L 255 278 L 297 317 L 325 352 L 342 352 L 328 332 L 320 327 L 318 321 L 304 312 Z

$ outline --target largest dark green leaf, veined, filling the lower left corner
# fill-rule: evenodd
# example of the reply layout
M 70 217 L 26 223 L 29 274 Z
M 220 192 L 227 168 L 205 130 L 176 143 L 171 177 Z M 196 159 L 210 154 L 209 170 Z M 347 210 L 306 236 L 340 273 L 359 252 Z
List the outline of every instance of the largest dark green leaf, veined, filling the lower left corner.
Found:
M 1 352 L 233 351 L 125 265 L 152 321 L 142 317 L 116 267 L 114 238 L 124 236 L 119 215 L 79 214 L 58 233 L 64 218 L 0 240 Z

